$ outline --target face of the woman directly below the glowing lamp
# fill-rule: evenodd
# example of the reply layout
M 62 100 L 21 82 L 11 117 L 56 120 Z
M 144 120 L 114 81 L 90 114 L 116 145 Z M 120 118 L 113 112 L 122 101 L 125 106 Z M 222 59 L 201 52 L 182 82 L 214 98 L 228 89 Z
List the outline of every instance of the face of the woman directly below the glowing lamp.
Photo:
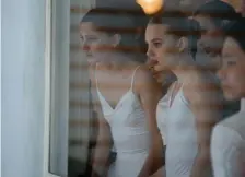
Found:
M 166 33 L 167 26 L 162 24 L 149 24 L 145 31 L 148 43 L 147 55 L 154 63 L 155 71 L 171 70 L 177 64 L 175 59 L 176 37 Z

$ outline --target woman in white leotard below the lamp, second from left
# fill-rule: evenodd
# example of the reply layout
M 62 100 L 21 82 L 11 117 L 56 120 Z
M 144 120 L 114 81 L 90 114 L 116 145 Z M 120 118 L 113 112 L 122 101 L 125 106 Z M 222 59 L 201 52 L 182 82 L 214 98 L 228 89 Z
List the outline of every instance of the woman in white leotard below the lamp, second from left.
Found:
M 145 32 L 148 56 L 158 61 L 154 69 L 177 78 L 166 94 L 166 113 L 158 114 L 164 122 L 159 128 L 166 144 L 166 177 L 211 176 L 210 139 L 221 117 L 221 91 L 213 74 L 194 61 L 197 36 L 190 32 L 195 31 L 197 22 L 179 12 L 164 12 L 151 20 Z

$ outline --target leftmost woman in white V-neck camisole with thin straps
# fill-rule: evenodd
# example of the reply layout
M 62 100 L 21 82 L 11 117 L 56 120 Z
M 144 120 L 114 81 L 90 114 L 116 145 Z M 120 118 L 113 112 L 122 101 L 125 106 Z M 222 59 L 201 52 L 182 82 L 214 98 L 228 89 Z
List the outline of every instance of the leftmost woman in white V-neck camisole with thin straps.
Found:
M 139 25 L 140 17 L 98 12 L 91 10 L 80 24 L 102 116 L 93 167 L 108 177 L 137 177 L 154 144 L 151 141 L 161 143 L 154 121 L 161 86 L 142 64 L 143 55 L 136 50 L 142 38 L 139 28 L 144 27 Z M 108 172 L 103 172 L 109 132 L 117 156 Z

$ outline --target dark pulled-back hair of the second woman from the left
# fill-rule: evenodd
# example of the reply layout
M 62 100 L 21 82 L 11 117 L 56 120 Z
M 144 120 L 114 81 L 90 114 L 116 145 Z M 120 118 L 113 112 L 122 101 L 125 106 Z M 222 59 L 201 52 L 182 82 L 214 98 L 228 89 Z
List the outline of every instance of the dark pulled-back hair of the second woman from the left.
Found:
M 197 21 L 188 19 L 185 13 L 179 11 L 165 11 L 153 15 L 149 23 L 167 25 L 167 34 L 172 34 L 177 37 L 187 37 L 189 51 L 195 59 L 197 52 L 197 40 L 200 37 L 200 25 Z

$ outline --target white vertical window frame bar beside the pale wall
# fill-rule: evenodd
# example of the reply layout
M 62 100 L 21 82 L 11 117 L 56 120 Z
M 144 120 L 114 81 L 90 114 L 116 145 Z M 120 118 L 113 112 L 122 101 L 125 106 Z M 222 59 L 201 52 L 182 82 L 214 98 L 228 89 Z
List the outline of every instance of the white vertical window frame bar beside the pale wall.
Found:
M 71 0 L 69 0 L 70 2 Z M 90 7 L 95 7 L 96 0 L 88 0 L 90 1 Z M 61 177 L 49 172 L 49 149 L 50 149 L 50 116 L 52 115 L 51 109 L 51 82 L 52 82 L 52 69 L 51 66 L 52 60 L 56 60 L 57 57 L 54 57 L 55 51 L 55 31 L 57 24 L 57 16 L 56 16 L 56 5 L 59 0 L 45 0 L 46 3 L 46 23 L 45 23 L 45 117 L 44 117 L 44 163 L 43 163 L 43 177 Z M 81 0 L 81 3 L 84 1 Z M 86 3 L 88 4 L 88 3 Z M 79 4 L 80 7 L 83 7 Z M 70 5 L 68 7 L 70 11 Z M 89 7 L 88 7 L 89 8 Z M 68 66 L 69 67 L 69 66 Z

